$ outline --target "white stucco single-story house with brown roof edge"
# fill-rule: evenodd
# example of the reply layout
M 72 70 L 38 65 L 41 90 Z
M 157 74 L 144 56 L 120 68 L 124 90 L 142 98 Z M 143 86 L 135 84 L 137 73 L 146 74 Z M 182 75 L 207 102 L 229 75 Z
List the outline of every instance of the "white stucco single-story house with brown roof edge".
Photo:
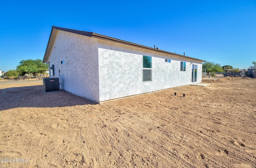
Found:
M 43 62 L 60 89 L 101 103 L 201 82 L 205 61 L 52 26 Z

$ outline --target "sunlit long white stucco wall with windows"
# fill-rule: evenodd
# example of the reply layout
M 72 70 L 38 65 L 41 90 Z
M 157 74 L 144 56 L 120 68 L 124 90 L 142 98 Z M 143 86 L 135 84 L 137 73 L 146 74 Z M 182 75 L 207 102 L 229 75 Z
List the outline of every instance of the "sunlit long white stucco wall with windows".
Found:
M 190 58 L 105 40 L 98 42 L 100 102 L 191 84 L 191 63 L 198 64 L 198 72 L 202 72 L 202 62 Z M 152 56 L 152 82 L 142 81 L 143 55 Z M 180 61 L 186 62 L 186 71 L 180 71 Z M 198 73 L 198 82 L 201 78 L 202 73 Z

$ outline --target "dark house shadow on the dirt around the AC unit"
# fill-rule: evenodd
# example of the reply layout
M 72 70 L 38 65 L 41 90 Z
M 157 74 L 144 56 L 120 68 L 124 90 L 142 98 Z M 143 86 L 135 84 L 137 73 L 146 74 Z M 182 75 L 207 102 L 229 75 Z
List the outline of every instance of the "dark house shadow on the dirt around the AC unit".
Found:
M 18 107 L 66 107 L 97 104 L 66 91 L 43 92 L 43 86 L 24 86 L 0 90 L 0 110 Z

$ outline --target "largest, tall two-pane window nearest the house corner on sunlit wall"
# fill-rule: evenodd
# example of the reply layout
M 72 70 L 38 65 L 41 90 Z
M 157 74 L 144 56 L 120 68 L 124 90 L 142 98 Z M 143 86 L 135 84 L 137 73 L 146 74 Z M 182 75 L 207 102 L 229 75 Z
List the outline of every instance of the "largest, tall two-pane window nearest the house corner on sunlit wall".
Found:
M 152 57 L 143 56 L 143 82 L 152 81 Z

